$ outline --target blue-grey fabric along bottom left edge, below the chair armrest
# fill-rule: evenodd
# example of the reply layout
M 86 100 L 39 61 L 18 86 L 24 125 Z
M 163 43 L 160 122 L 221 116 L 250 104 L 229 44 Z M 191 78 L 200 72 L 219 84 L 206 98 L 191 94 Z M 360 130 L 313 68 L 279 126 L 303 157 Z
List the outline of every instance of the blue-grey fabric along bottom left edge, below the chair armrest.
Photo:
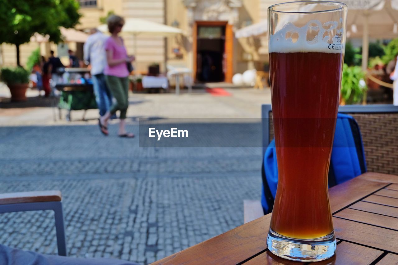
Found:
M 138 265 L 130 261 L 105 258 L 77 258 L 44 255 L 0 244 L 1 265 Z

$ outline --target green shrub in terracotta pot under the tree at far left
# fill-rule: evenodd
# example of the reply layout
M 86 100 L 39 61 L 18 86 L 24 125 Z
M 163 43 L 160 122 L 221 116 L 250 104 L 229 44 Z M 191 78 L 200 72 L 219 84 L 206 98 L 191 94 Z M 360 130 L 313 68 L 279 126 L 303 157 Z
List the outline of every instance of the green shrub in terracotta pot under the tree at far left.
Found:
M 29 72 L 23 67 L 2 68 L 0 80 L 8 86 L 11 101 L 26 101 L 26 90 L 29 86 Z

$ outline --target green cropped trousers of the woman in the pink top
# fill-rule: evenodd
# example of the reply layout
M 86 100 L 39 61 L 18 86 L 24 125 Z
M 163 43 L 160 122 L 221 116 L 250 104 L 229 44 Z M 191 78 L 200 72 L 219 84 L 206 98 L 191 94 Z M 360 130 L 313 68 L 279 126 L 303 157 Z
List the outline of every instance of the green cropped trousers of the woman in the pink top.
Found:
M 129 107 L 129 78 L 105 75 L 105 81 L 116 99 L 112 103 L 110 113 L 113 115 L 116 111 L 120 111 L 120 119 L 126 119 L 127 108 Z

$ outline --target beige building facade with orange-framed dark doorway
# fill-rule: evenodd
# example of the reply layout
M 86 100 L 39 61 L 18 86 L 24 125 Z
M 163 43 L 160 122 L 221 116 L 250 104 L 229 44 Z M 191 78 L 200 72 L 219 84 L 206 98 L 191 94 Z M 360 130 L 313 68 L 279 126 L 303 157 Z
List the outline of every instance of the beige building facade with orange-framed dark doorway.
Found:
M 82 18 L 76 28 L 96 27 L 108 12 L 178 27 L 183 35 L 138 36 L 136 51 L 133 35 L 124 35 L 128 53 L 136 56 L 138 72 L 146 72 L 150 64 L 160 64 L 162 72 L 168 66 L 183 66 L 193 70 L 197 81 L 230 82 L 233 74 L 250 68 L 262 69 L 267 61 L 266 37 L 236 39 L 234 31 L 266 19 L 268 6 L 275 2 L 281 1 L 80 0 Z M 21 47 L 22 64 L 37 45 L 29 43 Z M 79 45 L 69 45 L 72 49 L 79 48 Z M 49 49 L 51 45 L 42 44 L 42 54 Z M 2 63 L 15 64 L 14 47 L 2 45 Z

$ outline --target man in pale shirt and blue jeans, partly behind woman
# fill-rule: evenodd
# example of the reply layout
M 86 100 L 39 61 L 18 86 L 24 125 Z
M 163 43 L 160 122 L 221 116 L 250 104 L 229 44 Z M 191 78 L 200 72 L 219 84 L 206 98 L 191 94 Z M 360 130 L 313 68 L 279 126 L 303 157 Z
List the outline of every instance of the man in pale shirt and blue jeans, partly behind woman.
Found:
M 112 95 L 109 91 L 103 71 L 107 65 L 105 41 L 108 37 L 98 29 L 92 29 L 86 43 L 84 43 L 84 60 L 91 65 L 91 79 L 100 116 L 109 111 Z

